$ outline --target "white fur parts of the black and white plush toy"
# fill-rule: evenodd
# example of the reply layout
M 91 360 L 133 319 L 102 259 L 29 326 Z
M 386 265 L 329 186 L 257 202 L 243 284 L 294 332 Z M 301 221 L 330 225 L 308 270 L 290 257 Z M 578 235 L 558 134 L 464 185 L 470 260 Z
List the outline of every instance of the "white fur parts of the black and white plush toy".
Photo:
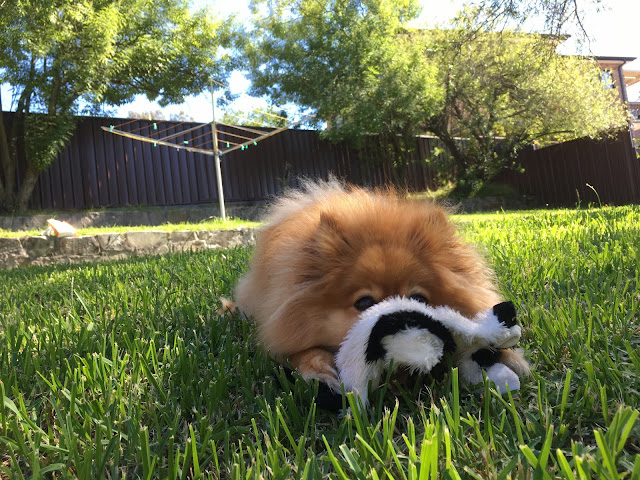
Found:
M 456 344 L 454 364 L 460 368 L 462 378 L 476 384 L 483 381 L 482 368 L 471 355 L 483 348 L 509 348 L 520 339 L 518 325 L 507 327 L 493 313 L 493 309 L 468 319 L 449 307 L 431 307 L 404 297 L 393 297 L 362 312 L 360 320 L 349 330 L 336 353 L 335 363 L 345 391 L 360 396 L 363 406 L 368 405 L 367 387 L 379 385 L 383 372 L 393 360 L 394 367 L 405 366 L 410 370 L 428 373 L 443 356 L 444 343 L 424 328 L 409 327 L 382 339 L 384 358 L 366 361 L 366 349 L 371 330 L 383 315 L 394 312 L 417 312 L 441 323 L 451 333 Z M 518 375 L 502 363 L 496 363 L 484 371 L 501 393 L 506 388 L 520 388 Z

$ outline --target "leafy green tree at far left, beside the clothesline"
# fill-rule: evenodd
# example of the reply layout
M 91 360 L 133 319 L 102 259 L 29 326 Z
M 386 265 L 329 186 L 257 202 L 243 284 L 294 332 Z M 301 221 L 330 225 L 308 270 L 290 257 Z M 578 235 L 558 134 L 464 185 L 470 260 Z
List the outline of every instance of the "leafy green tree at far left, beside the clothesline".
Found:
M 0 83 L 12 86 L 16 110 L 0 125 L 4 210 L 26 208 L 81 111 L 140 93 L 178 103 L 233 64 L 221 48 L 231 44 L 233 24 L 192 14 L 187 0 L 0 2 L 0 26 Z

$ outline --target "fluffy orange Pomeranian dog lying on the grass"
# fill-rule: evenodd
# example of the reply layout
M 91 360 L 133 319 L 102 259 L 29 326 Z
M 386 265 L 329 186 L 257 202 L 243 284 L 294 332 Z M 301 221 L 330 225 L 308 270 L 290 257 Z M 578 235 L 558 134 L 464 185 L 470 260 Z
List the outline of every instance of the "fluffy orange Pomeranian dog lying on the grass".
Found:
M 442 208 L 336 180 L 307 182 L 274 204 L 235 291 L 271 355 L 337 391 L 334 354 L 347 331 L 396 295 L 468 317 L 500 301 L 491 270 Z M 502 357 L 527 370 L 519 353 Z

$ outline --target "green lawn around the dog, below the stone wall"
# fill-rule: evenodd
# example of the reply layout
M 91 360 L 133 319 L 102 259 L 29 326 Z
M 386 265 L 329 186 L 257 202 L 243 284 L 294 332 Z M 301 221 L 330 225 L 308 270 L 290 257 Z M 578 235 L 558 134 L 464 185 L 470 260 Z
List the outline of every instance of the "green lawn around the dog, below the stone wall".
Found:
M 518 306 L 517 398 L 454 371 L 316 409 L 216 314 L 248 249 L 2 271 L 0 477 L 639 479 L 640 207 L 456 220 Z

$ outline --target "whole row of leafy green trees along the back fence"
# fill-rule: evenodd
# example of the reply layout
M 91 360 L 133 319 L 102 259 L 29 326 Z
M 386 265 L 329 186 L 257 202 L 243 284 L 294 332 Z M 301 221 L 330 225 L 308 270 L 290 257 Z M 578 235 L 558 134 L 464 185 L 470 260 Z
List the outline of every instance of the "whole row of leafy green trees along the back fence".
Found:
M 594 62 L 555 53 L 578 4 L 598 2 L 483 0 L 425 32 L 410 27 L 417 0 L 255 0 L 242 26 L 188 0 L 2 1 L 0 83 L 11 85 L 16 114 L 7 125 L 0 117 L 0 210 L 26 209 L 76 115 L 137 94 L 179 103 L 233 69 L 248 73 L 253 94 L 317 114 L 328 138 L 377 143 L 398 185 L 415 135 L 439 137 L 454 159 L 442 180 L 468 195 L 524 145 L 626 125 Z M 547 35 L 519 30 L 531 15 Z M 266 123 L 286 124 L 278 112 Z

